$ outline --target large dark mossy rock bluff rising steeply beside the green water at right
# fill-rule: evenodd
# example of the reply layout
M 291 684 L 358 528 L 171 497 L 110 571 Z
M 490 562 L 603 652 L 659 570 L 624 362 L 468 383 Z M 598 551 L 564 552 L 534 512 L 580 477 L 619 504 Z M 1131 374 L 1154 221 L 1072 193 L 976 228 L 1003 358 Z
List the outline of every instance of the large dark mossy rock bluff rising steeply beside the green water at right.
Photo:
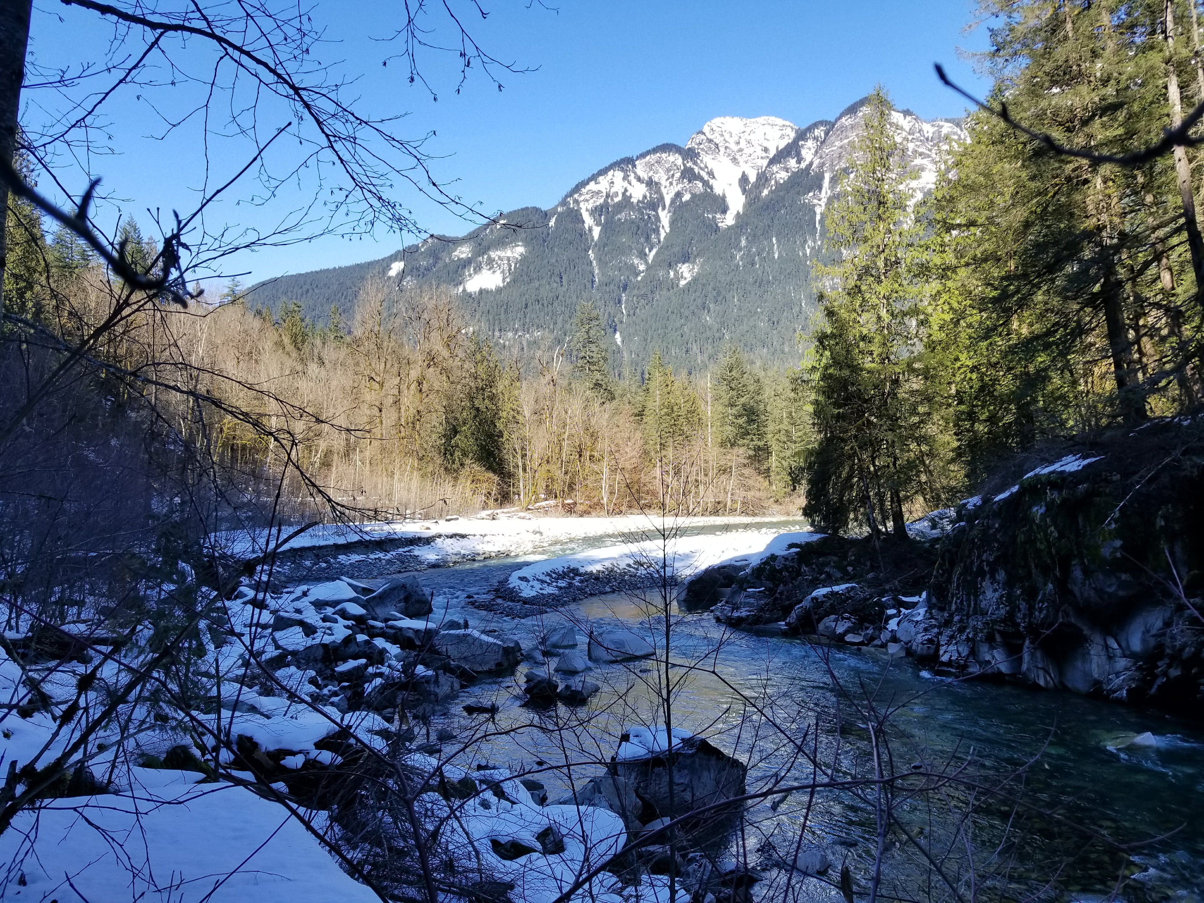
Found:
M 942 541 L 938 661 L 1204 712 L 1204 444 L 1164 421 L 970 498 Z

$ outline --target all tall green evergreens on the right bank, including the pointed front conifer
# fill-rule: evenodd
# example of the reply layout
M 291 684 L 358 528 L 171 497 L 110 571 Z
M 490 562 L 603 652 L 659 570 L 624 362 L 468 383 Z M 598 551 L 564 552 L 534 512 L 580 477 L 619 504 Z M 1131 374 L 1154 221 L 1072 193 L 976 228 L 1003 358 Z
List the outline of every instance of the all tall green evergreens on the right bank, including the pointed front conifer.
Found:
M 980 12 L 993 89 L 936 189 L 914 203 L 878 90 L 827 214 L 807 367 L 807 512 L 826 529 L 902 535 L 1017 453 L 1200 399 L 1198 160 L 1112 161 L 1204 101 L 1196 4 Z

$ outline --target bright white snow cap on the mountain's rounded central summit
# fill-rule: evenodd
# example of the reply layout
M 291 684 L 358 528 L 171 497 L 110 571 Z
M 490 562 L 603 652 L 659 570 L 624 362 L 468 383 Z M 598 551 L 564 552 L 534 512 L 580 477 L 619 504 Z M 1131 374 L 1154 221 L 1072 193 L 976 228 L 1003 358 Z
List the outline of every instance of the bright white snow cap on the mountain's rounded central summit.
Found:
M 690 136 L 686 147 L 698 154 L 709 171 L 712 190 L 727 201 L 722 225 L 736 222 L 749 184 L 797 134 L 797 125 L 773 116 L 756 119 L 721 116 Z

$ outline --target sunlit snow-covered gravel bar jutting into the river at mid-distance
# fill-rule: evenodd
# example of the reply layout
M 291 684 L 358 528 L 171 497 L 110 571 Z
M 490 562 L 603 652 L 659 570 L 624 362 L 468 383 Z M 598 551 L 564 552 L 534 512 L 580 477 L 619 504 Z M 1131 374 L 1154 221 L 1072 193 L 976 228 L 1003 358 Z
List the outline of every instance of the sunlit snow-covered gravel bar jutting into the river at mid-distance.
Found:
M 557 592 L 582 574 L 608 571 L 655 574 L 663 568 L 672 578 L 683 579 L 712 565 L 739 563 L 751 567 L 769 555 L 787 551 L 791 544 L 802 544 L 819 537 L 820 533 L 783 533 L 768 527 L 702 536 L 656 537 L 537 561 L 512 573 L 508 588 L 518 596 L 531 598 Z

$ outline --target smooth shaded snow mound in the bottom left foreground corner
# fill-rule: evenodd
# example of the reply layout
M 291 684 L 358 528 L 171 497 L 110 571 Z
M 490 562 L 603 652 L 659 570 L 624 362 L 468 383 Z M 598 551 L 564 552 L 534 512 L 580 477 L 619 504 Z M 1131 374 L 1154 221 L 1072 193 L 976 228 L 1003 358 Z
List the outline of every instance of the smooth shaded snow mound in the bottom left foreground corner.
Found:
M 293 815 L 191 772 L 131 768 L 129 790 L 47 799 L 0 836 L 0 897 L 85 903 L 376 901 Z M 18 873 L 24 881 L 18 884 Z M 70 885 L 67 879 L 70 878 Z

